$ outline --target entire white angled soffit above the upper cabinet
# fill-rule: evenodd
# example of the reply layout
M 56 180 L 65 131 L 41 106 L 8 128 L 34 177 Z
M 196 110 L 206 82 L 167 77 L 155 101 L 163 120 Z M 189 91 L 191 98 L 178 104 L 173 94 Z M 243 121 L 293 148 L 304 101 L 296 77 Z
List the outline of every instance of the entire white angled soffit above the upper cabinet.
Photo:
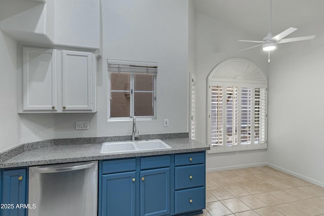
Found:
M 100 49 L 100 14 L 100 0 L 0 1 L 0 30 L 29 44 Z

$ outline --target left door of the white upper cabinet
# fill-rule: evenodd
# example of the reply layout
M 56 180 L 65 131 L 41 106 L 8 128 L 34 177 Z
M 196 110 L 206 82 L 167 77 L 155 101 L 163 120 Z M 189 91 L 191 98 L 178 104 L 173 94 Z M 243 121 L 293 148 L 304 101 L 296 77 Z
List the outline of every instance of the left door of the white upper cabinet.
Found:
M 57 110 L 56 50 L 23 47 L 22 110 Z

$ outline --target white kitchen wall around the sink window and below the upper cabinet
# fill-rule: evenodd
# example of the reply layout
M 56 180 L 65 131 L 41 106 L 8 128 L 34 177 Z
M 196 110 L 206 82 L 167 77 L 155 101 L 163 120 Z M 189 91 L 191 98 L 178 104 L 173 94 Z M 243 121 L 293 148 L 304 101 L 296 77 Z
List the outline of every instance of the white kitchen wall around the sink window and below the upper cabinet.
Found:
M 103 56 L 97 62 L 97 113 L 18 115 L 17 42 L 0 31 L 0 151 L 53 138 L 131 135 L 131 121 L 107 122 L 107 58 L 158 63 L 157 120 L 138 121 L 140 134 L 188 132 L 188 2 L 101 4 Z M 169 127 L 164 127 L 164 118 L 169 118 Z M 89 130 L 76 131 L 78 120 L 89 120 Z

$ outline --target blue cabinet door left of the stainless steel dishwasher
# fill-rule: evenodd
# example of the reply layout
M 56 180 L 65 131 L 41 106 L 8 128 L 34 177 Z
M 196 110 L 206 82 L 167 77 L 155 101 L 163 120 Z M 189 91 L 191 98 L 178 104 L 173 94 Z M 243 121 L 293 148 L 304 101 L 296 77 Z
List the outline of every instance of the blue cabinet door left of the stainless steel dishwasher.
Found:
M 25 216 L 27 209 L 27 170 L 12 169 L 3 171 L 2 199 L 3 204 L 12 204 L 10 208 L 1 209 L 2 216 Z M 18 206 L 17 206 L 18 204 Z M 12 207 L 12 208 L 11 208 Z

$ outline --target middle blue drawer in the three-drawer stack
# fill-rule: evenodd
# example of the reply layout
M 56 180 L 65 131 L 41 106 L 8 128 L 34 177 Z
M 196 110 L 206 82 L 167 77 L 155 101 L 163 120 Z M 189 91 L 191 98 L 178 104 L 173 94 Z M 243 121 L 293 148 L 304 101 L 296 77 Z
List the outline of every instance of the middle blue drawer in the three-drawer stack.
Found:
M 205 164 L 179 166 L 175 172 L 176 190 L 205 186 Z

